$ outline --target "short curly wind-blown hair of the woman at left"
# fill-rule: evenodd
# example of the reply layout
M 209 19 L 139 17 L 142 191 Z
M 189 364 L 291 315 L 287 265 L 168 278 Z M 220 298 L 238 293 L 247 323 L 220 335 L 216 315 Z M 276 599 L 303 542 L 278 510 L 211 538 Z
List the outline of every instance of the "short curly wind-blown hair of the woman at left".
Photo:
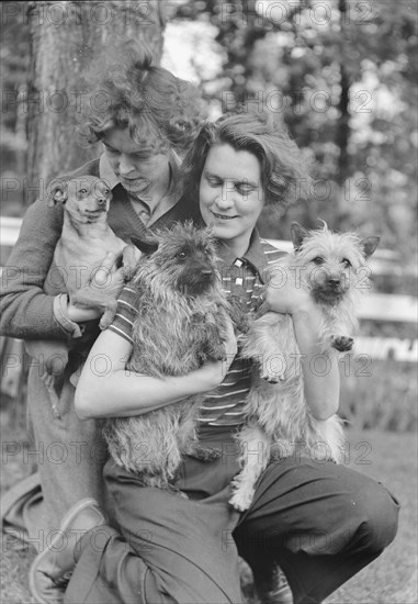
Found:
M 152 65 L 146 46 L 126 43 L 97 78 L 84 103 L 78 134 L 89 144 L 112 127 L 154 153 L 187 150 L 202 125 L 203 105 L 191 82 Z

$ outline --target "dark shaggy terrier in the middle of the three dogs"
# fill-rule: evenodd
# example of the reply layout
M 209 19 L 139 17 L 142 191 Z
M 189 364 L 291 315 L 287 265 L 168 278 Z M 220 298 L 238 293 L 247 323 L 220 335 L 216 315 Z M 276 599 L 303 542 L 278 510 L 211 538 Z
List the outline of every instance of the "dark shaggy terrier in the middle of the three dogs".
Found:
M 229 304 L 207 230 L 177 224 L 154 242 L 133 242 L 144 255 L 132 282 L 138 315 L 127 369 L 163 378 L 184 376 L 208 358 L 221 360 Z M 104 436 L 115 462 L 140 474 L 146 485 L 170 489 L 182 455 L 199 449 L 195 417 L 203 398 L 108 420 Z

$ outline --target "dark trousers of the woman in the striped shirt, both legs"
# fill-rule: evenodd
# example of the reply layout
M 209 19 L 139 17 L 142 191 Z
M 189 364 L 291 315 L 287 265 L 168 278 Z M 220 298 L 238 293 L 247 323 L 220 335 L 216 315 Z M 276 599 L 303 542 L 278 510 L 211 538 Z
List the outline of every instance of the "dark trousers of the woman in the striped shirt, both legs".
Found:
M 222 457 L 187 459 L 179 495 L 143 488 L 112 462 L 104 477 L 120 534 L 101 527 L 82 541 L 67 603 L 239 603 L 238 553 L 264 580 L 279 563 L 295 603 L 320 602 L 394 539 L 398 504 L 379 482 L 312 459 L 272 462 L 253 503 L 227 501 L 238 471 L 231 441 Z

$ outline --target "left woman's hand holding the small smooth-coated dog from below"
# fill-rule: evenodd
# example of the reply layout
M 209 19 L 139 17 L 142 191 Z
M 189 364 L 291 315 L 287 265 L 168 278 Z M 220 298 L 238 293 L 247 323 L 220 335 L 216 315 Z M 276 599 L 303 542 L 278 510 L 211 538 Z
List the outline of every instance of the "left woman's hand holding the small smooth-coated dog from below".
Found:
M 99 318 L 110 301 L 117 299 L 125 283 L 125 269 L 117 268 L 117 256 L 110 251 L 89 281 L 71 295 L 67 312 L 75 322 Z

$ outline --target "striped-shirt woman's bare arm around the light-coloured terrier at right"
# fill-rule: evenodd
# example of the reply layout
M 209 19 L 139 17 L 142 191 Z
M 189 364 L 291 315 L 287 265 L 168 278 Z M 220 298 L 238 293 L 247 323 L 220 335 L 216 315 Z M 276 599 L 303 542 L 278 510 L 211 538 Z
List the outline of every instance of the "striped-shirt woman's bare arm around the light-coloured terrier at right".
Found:
M 324 353 L 319 340 L 323 313 L 310 295 L 286 283 L 281 288 L 268 288 L 259 314 L 267 311 L 292 314 L 301 366 L 305 383 L 305 398 L 317 420 L 327 420 L 338 411 L 340 373 L 338 354 L 334 349 Z

